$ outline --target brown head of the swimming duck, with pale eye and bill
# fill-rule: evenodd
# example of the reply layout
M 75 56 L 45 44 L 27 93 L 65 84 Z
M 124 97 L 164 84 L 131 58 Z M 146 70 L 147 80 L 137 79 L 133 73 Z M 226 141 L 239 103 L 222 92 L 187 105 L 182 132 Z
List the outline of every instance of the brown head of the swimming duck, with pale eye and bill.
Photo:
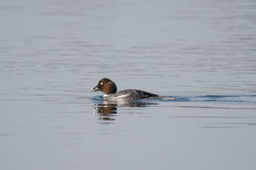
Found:
M 108 95 L 108 94 L 116 93 L 117 88 L 116 88 L 115 82 L 107 78 L 103 78 L 99 80 L 98 84 L 94 88 L 91 88 L 91 91 L 97 91 L 97 90 L 101 90 L 103 93 Z

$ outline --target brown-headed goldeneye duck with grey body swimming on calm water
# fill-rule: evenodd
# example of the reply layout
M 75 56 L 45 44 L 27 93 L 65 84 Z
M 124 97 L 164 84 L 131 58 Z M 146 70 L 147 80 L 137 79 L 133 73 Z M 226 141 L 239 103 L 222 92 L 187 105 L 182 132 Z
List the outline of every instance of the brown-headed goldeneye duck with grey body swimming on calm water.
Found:
M 106 101 L 129 102 L 146 98 L 160 98 L 157 94 L 148 93 L 143 90 L 129 89 L 116 92 L 116 84 L 107 78 L 99 80 L 98 84 L 94 88 L 91 88 L 91 91 L 97 90 L 101 90 L 104 93 L 103 99 Z

